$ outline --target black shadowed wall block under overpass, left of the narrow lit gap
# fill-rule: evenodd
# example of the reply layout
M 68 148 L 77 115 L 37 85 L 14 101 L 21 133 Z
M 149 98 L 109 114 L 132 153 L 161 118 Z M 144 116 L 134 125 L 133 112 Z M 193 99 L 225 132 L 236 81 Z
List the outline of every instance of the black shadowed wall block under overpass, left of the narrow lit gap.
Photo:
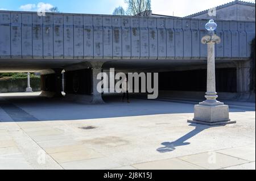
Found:
M 42 96 L 63 97 L 62 95 L 62 69 L 44 70 L 41 72 Z

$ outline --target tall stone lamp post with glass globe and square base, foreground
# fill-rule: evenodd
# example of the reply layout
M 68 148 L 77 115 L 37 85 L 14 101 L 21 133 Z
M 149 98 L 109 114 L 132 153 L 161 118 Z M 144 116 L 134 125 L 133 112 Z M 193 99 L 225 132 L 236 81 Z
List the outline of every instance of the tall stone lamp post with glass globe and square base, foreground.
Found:
M 214 46 L 220 43 L 221 39 L 214 34 L 217 24 L 211 19 L 205 25 L 208 34 L 204 36 L 201 43 L 207 44 L 207 92 L 204 102 L 195 105 L 194 118 L 188 120 L 189 123 L 205 124 L 205 125 L 222 125 L 229 123 L 236 123 L 229 119 L 229 106 L 218 102 L 215 83 L 215 50 Z

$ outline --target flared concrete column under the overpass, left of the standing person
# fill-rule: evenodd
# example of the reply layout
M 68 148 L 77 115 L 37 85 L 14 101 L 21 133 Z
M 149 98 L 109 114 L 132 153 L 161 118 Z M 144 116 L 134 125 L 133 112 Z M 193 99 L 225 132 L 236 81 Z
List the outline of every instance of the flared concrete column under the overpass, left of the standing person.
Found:
M 97 85 L 101 80 L 97 79 L 97 75 L 101 73 L 101 68 L 104 62 L 90 62 L 92 65 L 92 104 L 104 103 L 101 97 L 101 92 L 97 91 Z

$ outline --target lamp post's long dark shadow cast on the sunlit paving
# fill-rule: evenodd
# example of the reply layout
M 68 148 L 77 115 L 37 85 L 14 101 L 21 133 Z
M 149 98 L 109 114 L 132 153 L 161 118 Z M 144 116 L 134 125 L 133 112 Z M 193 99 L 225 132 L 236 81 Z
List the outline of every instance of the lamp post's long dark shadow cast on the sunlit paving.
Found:
M 207 125 L 198 125 L 198 124 L 189 124 L 189 126 L 195 127 L 191 132 L 185 134 L 184 136 L 180 137 L 179 139 L 172 141 L 172 142 L 162 142 L 162 147 L 156 149 L 156 151 L 160 153 L 166 153 L 170 151 L 174 151 L 177 146 L 185 146 L 189 145 L 190 142 L 185 142 L 189 138 L 192 138 L 193 136 L 196 136 L 196 134 L 199 134 L 200 132 L 204 131 L 205 129 L 212 128 L 213 126 L 207 126 Z M 220 127 L 223 125 L 216 125 L 214 127 Z

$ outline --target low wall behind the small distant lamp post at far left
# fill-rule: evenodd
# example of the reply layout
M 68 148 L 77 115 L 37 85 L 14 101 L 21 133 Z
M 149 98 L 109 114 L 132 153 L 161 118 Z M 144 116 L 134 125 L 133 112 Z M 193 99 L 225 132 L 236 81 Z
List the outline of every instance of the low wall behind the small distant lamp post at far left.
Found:
M 31 77 L 30 85 L 33 91 L 40 91 L 40 78 Z M 27 78 L 1 79 L 0 92 L 24 92 L 27 87 Z

